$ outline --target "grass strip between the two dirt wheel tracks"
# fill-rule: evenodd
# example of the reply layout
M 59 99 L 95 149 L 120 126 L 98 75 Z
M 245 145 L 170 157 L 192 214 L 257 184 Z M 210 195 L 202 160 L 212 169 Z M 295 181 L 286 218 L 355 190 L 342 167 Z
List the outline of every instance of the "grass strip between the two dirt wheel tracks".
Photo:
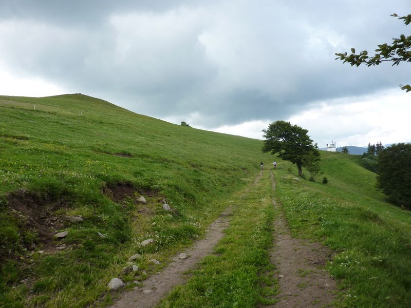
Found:
M 255 307 L 266 303 L 277 284 L 267 248 L 272 243 L 272 190 L 269 172 L 242 197 L 233 196 L 233 216 L 214 254 L 202 260 L 185 285 L 160 307 Z

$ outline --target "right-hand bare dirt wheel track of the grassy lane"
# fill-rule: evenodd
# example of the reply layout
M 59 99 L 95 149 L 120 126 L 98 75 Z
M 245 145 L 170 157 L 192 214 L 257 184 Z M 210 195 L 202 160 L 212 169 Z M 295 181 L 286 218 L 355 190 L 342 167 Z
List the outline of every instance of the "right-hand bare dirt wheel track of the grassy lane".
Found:
M 272 188 L 275 189 L 271 172 Z M 332 306 L 337 291 L 334 280 L 321 269 L 330 258 L 330 250 L 319 243 L 291 237 L 281 206 L 273 200 L 276 209 L 274 246 L 270 259 L 277 268 L 280 294 L 273 308 Z

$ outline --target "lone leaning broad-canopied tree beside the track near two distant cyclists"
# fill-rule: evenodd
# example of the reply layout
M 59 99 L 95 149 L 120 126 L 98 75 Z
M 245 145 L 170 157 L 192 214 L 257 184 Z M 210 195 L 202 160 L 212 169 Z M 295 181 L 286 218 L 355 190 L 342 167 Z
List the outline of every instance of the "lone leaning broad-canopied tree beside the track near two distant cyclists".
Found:
M 303 176 L 305 157 L 312 151 L 320 156 L 318 149 L 308 136 L 308 130 L 286 121 L 275 121 L 263 129 L 265 138 L 263 152 L 278 153 L 278 157 L 297 165 L 298 175 Z

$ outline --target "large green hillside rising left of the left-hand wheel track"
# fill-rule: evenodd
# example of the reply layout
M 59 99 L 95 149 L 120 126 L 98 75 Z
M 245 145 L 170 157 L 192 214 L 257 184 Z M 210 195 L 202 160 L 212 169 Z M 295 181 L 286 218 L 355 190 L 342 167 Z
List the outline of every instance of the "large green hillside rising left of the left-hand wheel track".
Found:
M 254 180 L 260 160 L 269 159 L 260 148 L 258 140 L 166 123 L 81 94 L 0 97 L 0 303 L 71 307 L 74 297 L 84 306 L 128 256 L 166 261 L 201 235 L 221 201 Z M 123 200 L 107 197 L 130 189 Z M 140 195 L 147 205 L 135 204 Z M 68 223 L 68 215 L 84 222 Z M 53 227 L 69 235 L 53 240 Z M 149 237 L 155 245 L 141 247 Z M 157 270 L 145 259 L 139 266 Z

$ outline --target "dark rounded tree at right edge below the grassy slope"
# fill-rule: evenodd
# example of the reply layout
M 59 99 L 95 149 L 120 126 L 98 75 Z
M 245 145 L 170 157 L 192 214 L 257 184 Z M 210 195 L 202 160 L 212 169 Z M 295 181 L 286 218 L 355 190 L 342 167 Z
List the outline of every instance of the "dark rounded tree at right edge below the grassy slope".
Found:
M 411 209 L 411 144 L 398 143 L 378 155 L 377 185 L 394 204 Z

